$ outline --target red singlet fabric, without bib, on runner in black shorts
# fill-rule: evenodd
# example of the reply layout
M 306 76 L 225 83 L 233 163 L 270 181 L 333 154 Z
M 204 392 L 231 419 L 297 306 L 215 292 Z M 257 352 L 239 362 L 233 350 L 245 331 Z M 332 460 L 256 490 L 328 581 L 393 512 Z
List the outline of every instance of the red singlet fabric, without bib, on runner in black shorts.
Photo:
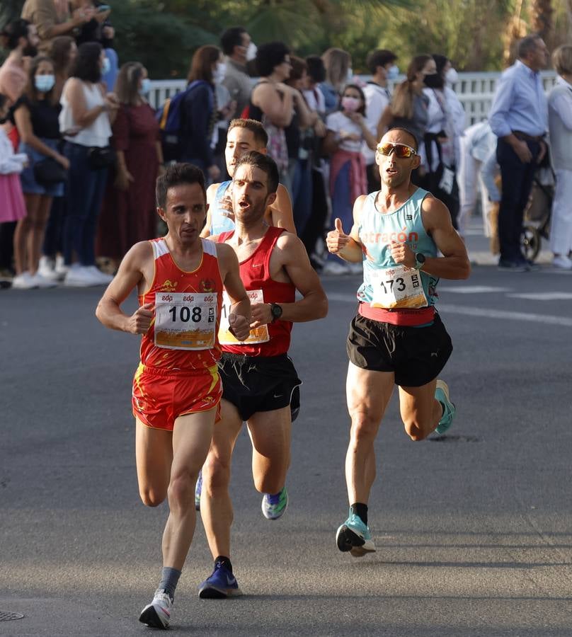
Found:
M 240 263 L 240 277 L 247 292 L 262 290 L 264 303 L 294 303 L 296 300 L 296 288 L 292 283 L 281 283 L 270 278 L 270 256 L 278 237 L 284 232 L 284 228 L 270 226 L 263 236 L 258 248 Z M 223 232 L 217 241 L 224 243 L 234 234 Z M 251 294 L 251 300 L 253 295 Z M 285 354 L 290 348 L 290 332 L 292 321 L 274 321 L 268 323 L 268 336 L 266 343 L 244 343 L 236 345 L 222 345 L 223 352 L 233 354 L 246 354 L 247 356 L 278 356 Z

